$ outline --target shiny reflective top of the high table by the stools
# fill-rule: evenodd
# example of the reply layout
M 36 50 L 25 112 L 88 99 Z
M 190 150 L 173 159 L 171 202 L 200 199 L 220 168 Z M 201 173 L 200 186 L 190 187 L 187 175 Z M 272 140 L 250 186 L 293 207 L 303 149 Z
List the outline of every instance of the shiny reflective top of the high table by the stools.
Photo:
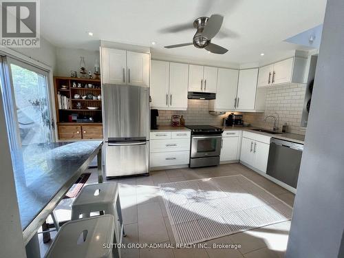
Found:
M 85 165 L 102 141 L 32 144 L 12 153 L 23 230 Z

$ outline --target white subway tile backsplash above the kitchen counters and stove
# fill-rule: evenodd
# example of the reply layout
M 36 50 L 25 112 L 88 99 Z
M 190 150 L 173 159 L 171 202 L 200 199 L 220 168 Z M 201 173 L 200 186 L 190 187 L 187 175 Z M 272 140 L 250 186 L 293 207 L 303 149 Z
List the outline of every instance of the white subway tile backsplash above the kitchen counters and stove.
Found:
M 269 87 L 266 92 L 266 109 L 264 113 L 244 112 L 244 122 L 249 122 L 254 127 L 272 129 L 273 119 L 266 116 L 276 116 L 278 127 L 281 130 L 285 122 L 288 123 L 287 131 L 290 133 L 305 134 L 301 127 L 303 100 L 305 98 L 305 84 L 291 83 L 287 85 Z M 221 126 L 223 118 L 230 114 L 228 111 L 222 116 L 209 114 L 209 100 L 188 100 L 186 111 L 159 110 L 158 125 L 171 125 L 172 115 L 182 115 L 186 125 L 215 125 Z M 236 112 L 236 114 L 238 114 Z

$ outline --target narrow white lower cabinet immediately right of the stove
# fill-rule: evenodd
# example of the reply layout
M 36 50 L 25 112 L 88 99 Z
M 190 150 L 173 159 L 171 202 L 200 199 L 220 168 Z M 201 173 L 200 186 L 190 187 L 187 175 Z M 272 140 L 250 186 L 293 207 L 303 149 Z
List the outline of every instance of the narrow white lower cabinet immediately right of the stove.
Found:
M 240 144 L 240 131 L 224 131 L 224 133 L 222 133 L 222 145 L 219 161 L 227 162 L 239 160 Z

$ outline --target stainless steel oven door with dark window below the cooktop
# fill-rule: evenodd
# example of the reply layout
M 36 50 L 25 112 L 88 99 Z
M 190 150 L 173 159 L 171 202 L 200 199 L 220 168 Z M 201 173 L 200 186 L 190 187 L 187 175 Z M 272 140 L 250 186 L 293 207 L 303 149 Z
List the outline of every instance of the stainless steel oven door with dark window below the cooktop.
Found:
M 221 135 L 192 136 L 191 158 L 204 158 L 219 156 L 221 151 Z

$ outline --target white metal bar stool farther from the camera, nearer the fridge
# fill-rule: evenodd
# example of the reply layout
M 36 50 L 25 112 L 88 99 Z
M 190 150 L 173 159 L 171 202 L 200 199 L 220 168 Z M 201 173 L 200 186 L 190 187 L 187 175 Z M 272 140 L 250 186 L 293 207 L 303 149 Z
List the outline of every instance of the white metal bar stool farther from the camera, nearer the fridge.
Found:
M 83 215 L 83 218 L 90 217 L 92 212 L 114 215 L 115 240 L 121 243 L 125 230 L 117 183 L 88 184 L 81 189 L 72 204 L 72 220 L 79 219 L 80 215 Z

